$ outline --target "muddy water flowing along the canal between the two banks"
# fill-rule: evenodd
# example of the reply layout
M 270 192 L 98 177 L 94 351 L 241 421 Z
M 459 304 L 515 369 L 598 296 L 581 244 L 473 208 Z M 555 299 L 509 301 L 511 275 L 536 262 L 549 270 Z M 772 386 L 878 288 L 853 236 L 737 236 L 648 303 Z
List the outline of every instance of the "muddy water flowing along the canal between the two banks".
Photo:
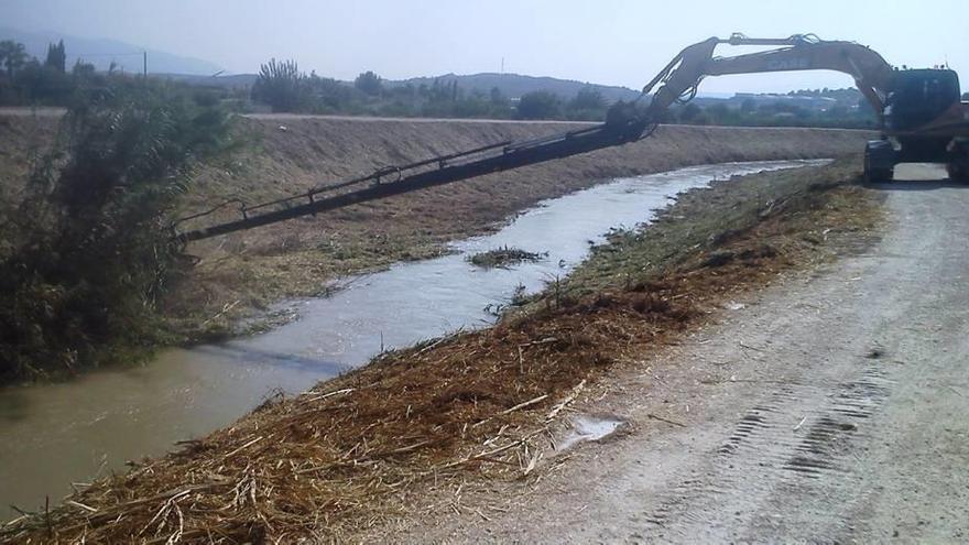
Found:
M 293 303 L 302 318 L 268 334 L 190 350 L 167 350 L 133 369 L 0 390 L 0 517 L 33 510 L 126 460 L 227 425 L 274 390 L 300 392 L 404 347 L 492 321 L 486 308 L 516 290 L 563 276 L 610 228 L 647 221 L 679 192 L 715 178 L 795 167 L 807 161 L 731 163 L 622 178 L 547 200 L 499 232 L 454 244 L 443 258 L 345 279 L 327 298 Z M 536 263 L 481 270 L 470 253 L 500 246 L 547 252 Z

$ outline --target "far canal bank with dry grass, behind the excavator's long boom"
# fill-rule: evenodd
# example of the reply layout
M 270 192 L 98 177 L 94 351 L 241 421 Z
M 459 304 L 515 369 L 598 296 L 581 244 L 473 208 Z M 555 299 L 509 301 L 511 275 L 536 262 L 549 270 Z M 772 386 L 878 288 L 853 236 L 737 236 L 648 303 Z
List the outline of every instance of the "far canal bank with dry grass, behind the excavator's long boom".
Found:
M 58 121 L 0 117 L 0 207 L 6 211 L 20 201 L 31 165 L 54 141 Z M 388 164 L 563 129 L 548 123 L 240 119 L 233 140 L 243 145 L 228 157 L 220 154 L 195 165 L 181 210 L 209 208 L 231 197 L 258 203 Z M 152 305 L 160 319 L 152 321 L 151 338 L 140 335 L 134 349 L 112 353 L 131 360 L 159 344 L 230 335 L 239 318 L 258 316 L 271 303 L 317 294 L 339 275 L 439 254 L 449 240 L 491 230 L 543 198 L 602 178 L 698 163 L 832 156 L 859 148 L 867 137 L 851 131 L 668 127 L 653 139 L 623 148 L 195 243 L 188 252 L 197 263 L 168 268 L 164 291 Z M 213 219 L 233 214 L 227 208 Z M 257 324 L 287 317 L 284 313 Z M 104 364 L 110 358 L 88 353 L 84 359 Z M 44 372 L 51 371 L 57 372 Z

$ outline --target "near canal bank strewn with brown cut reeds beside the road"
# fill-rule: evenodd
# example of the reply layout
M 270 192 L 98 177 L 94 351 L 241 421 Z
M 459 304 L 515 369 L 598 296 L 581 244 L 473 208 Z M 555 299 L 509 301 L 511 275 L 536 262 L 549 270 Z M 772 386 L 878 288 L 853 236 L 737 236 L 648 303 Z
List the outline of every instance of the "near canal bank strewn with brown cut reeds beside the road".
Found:
M 258 408 L 50 514 L 22 542 L 347 538 L 439 509 L 438 490 L 546 470 L 547 433 L 621 368 L 717 319 L 729 297 L 870 239 L 878 198 L 858 160 L 684 195 L 597 248 L 562 285 L 496 327 L 401 350 Z M 459 492 L 458 492 L 459 494 Z M 439 499 L 439 497 L 437 497 Z M 483 516 L 483 515 L 482 515 Z

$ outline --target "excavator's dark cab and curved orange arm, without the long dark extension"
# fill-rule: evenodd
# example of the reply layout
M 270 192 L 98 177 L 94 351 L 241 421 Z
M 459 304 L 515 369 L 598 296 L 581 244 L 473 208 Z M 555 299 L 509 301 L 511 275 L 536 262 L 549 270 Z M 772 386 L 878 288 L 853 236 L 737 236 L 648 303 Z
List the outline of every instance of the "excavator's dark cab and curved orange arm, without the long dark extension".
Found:
M 714 56 L 721 44 L 781 47 L 733 57 Z M 696 96 L 697 86 L 707 76 L 817 69 L 850 75 L 878 115 L 882 138 L 865 146 L 865 178 L 890 181 L 899 163 L 946 163 L 951 178 L 967 181 L 969 103 L 960 102 L 955 70 L 900 70 L 854 42 L 824 41 L 813 34 L 780 40 L 743 34 L 726 40 L 711 37 L 683 50 L 645 86 L 644 95 L 660 87 L 639 117 L 658 119 L 674 102 Z

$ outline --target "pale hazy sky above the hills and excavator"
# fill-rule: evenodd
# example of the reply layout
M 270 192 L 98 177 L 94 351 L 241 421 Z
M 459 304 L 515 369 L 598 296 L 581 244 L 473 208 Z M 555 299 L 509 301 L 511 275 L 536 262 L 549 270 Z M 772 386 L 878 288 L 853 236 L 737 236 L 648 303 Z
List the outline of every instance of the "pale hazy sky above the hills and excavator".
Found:
M 399 79 L 499 72 L 504 57 L 505 72 L 632 88 L 711 35 L 813 32 L 870 45 L 895 65 L 948 61 L 969 81 L 967 0 L 0 0 L 0 25 L 116 39 L 232 73 L 276 57 L 341 79 L 366 69 Z M 850 85 L 812 72 L 710 78 L 700 90 Z

